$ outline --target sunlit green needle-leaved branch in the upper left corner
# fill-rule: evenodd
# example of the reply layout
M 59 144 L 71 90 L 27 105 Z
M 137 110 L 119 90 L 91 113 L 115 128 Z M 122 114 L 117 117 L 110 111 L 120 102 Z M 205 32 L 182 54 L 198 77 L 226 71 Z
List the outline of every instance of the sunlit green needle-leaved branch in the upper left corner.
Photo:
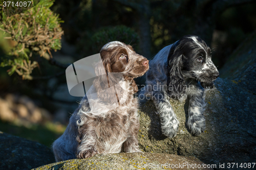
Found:
M 39 66 L 37 61 L 32 61 L 32 55 L 50 61 L 51 50 L 60 50 L 63 35 L 60 22 L 63 21 L 50 10 L 53 2 L 41 0 L 35 7 L 12 16 L 3 11 L 0 13 L 0 30 L 6 33 L 5 38 L 16 42 L 0 64 L 2 67 L 11 66 L 7 70 L 9 75 L 17 72 L 23 79 L 31 80 L 32 70 Z M 3 0 L 0 4 L 3 8 Z

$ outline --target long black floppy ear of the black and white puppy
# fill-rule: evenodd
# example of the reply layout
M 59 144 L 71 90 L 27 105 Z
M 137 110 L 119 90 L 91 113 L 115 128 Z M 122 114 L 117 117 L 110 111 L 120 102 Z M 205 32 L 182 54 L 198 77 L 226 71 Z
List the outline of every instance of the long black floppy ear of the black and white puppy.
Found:
M 177 43 L 177 42 L 176 42 Z M 168 55 L 168 76 L 167 76 L 167 85 L 168 85 L 168 94 L 170 98 L 181 98 L 185 94 L 185 82 L 181 72 L 182 69 L 182 57 L 179 45 L 174 44 L 175 46 L 170 49 Z

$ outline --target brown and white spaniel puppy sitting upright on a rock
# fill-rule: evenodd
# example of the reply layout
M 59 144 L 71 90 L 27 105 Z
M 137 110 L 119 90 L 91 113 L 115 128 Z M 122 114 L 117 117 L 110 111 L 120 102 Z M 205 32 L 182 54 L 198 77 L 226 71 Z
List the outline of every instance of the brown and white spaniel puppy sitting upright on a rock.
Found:
M 134 78 L 145 74 L 148 60 L 119 41 L 105 44 L 100 56 L 103 70 L 96 66 L 98 77 L 88 92 L 97 97 L 90 101 L 88 93 L 83 97 L 66 131 L 53 142 L 56 161 L 101 153 L 141 152 L 138 103 L 133 95 L 138 88 Z M 114 89 L 114 93 L 106 89 Z

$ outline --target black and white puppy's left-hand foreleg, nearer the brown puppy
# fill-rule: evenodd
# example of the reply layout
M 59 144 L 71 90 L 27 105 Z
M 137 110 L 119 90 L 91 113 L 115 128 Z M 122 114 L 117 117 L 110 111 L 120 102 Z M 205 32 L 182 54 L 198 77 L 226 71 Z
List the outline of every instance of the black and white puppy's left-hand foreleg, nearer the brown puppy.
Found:
M 179 121 L 170 105 L 168 95 L 164 91 L 154 91 L 152 100 L 160 115 L 162 133 L 168 138 L 175 137 L 179 129 Z

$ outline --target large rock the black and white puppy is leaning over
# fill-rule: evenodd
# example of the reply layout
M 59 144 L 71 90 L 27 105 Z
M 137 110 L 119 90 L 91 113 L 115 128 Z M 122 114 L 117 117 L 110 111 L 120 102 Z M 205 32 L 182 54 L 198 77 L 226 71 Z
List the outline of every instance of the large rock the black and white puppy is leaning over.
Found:
M 243 95 L 239 95 L 243 94 Z M 206 129 L 193 136 L 186 127 L 187 101 L 170 101 L 180 122 L 176 137 L 162 135 L 153 102 L 141 106 L 139 145 L 145 152 L 195 156 L 207 164 L 256 161 L 256 96 L 218 78 L 206 91 Z

